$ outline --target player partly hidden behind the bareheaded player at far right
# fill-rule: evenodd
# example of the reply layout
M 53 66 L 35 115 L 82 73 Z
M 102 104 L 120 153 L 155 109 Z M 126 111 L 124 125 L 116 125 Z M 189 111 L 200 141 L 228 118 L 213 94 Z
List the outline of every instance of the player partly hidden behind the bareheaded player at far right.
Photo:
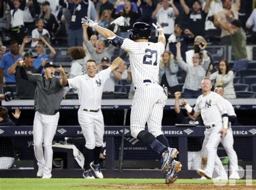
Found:
M 217 86 L 214 88 L 214 92 L 224 97 L 224 88 L 222 86 Z M 231 124 L 237 123 L 237 115 L 234 112 L 233 105 L 226 99 L 223 99 L 223 105 L 227 110 L 228 115 L 228 129 L 227 136 L 221 140 L 221 144 L 227 152 L 228 158 L 230 158 L 231 175 L 230 179 L 240 179 L 238 174 L 238 158 L 237 153 L 234 151 L 234 138 Z

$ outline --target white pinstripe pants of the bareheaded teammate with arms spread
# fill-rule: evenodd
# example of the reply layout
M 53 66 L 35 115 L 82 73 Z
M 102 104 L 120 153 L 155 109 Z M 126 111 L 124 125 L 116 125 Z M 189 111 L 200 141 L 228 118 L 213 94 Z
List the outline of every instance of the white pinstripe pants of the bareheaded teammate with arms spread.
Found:
M 104 119 L 102 110 L 89 112 L 79 109 L 77 114 L 85 138 L 85 147 L 92 150 L 95 146 L 103 146 Z

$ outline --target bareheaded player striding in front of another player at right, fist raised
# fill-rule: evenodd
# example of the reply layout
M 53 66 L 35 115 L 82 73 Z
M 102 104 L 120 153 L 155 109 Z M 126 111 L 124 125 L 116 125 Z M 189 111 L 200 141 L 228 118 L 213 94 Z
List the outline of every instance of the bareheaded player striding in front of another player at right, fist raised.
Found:
M 197 173 L 207 179 L 212 179 L 214 163 L 217 157 L 217 147 L 227 134 L 228 117 L 225 107 L 223 107 L 223 97 L 211 92 L 211 80 L 205 78 L 201 82 L 203 95 L 197 98 L 196 106 L 192 109 L 186 100 L 181 100 L 185 109 L 194 117 L 201 116 L 206 126 L 205 140 L 207 141 L 207 165 L 205 170 L 198 169 Z M 221 135 L 220 135 L 221 133 Z M 220 171 L 225 171 L 222 164 L 219 165 Z

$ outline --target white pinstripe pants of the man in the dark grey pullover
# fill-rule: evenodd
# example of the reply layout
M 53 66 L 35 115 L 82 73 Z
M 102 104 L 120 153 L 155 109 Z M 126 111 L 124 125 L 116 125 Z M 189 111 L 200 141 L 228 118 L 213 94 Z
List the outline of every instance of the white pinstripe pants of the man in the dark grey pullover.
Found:
M 59 121 L 59 112 L 55 115 L 45 115 L 36 111 L 33 123 L 34 151 L 39 168 L 44 173 L 51 173 L 52 169 L 52 140 L 55 136 Z M 42 143 L 44 143 L 44 152 Z

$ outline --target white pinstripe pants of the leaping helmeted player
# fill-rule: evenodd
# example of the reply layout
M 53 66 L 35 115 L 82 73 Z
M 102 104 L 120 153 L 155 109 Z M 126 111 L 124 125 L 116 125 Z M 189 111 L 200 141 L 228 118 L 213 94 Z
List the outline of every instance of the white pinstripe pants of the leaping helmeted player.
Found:
M 145 130 L 157 137 L 162 135 L 161 122 L 167 96 L 164 89 L 157 83 L 144 83 L 137 88 L 133 97 L 131 109 L 131 135 L 137 138 L 140 131 Z

